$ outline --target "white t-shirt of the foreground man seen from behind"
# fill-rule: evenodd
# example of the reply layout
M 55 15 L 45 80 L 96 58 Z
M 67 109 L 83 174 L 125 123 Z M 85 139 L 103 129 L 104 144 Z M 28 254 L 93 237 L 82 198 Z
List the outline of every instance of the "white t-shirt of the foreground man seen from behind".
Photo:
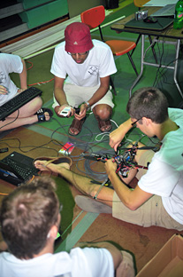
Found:
M 107 249 L 75 248 L 70 254 L 44 254 L 20 260 L 8 252 L 0 254 L 1 277 L 113 277 L 114 265 Z

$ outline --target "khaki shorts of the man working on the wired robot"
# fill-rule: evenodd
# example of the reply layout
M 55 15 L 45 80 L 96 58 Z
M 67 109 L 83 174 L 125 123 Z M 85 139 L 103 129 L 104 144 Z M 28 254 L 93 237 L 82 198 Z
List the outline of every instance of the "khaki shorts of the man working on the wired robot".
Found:
M 141 155 L 139 164 L 147 166 L 155 153 L 151 150 L 144 152 Z M 137 178 L 140 179 L 146 170 L 139 170 Z M 161 196 L 154 195 L 147 202 L 141 205 L 137 210 L 129 210 L 118 198 L 116 192 L 113 195 L 112 216 L 120 220 L 136 224 L 138 226 L 161 226 L 166 229 L 183 230 L 183 225 L 180 225 L 172 217 L 169 216 L 164 209 Z

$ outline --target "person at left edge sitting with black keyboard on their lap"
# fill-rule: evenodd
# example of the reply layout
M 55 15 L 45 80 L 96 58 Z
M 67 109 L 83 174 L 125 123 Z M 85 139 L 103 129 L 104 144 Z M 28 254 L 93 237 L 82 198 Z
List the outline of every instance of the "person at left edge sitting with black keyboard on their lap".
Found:
M 11 73 L 19 74 L 20 88 L 12 82 Z M 0 53 L 0 107 L 25 90 L 27 90 L 27 67 L 24 59 L 17 55 Z M 49 121 L 50 116 L 52 111 L 49 108 L 42 108 L 42 99 L 38 96 L 8 115 L 4 121 L 0 121 L 0 131 Z

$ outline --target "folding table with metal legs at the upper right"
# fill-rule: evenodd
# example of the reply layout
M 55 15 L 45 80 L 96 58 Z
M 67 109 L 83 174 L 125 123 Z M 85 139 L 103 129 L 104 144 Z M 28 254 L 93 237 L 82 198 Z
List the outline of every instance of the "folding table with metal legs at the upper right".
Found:
M 159 10 L 160 7 L 146 7 L 144 10 L 148 10 L 148 14 L 152 14 Z M 134 19 L 134 14 L 126 17 L 123 20 L 119 20 L 116 23 L 111 25 L 111 29 L 117 31 L 118 33 L 120 32 L 128 32 L 128 33 L 133 33 L 133 34 L 141 34 L 141 73 L 137 76 L 135 79 L 133 85 L 130 88 L 129 91 L 129 96 L 131 97 L 132 91 L 134 86 L 140 81 L 141 75 L 143 74 L 143 68 L 144 65 L 146 66 L 151 66 L 151 67 L 165 67 L 173 70 L 173 79 L 174 82 L 178 88 L 179 94 L 183 99 L 183 93 L 180 89 L 179 83 L 177 81 L 177 71 L 178 71 L 178 59 L 179 59 L 179 48 L 180 48 L 180 40 L 183 39 L 183 33 L 182 29 L 173 29 L 172 25 L 169 26 L 168 28 L 165 28 L 163 31 L 156 31 L 156 30 L 149 30 L 149 29 L 138 29 L 138 28 L 127 28 L 126 23 L 130 20 Z M 156 63 L 150 63 L 145 61 L 144 53 L 145 53 L 145 36 L 155 36 L 155 37 L 165 37 L 173 40 L 173 43 L 176 44 L 176 53 L 175 53 L 175 63 L 174 66 L 165 66 L 165 65 L 160 65 L 157 62 Z

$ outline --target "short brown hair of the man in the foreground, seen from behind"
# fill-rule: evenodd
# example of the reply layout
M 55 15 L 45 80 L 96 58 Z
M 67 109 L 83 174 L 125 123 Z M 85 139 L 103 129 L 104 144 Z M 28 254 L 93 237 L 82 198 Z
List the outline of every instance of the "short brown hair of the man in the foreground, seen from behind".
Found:
M 45 247 L 59 213 L 55 188 L 51 178 L 35 178 L 4 197 L 0 210 L 2 234 L 15 257 L 32 258 Z

